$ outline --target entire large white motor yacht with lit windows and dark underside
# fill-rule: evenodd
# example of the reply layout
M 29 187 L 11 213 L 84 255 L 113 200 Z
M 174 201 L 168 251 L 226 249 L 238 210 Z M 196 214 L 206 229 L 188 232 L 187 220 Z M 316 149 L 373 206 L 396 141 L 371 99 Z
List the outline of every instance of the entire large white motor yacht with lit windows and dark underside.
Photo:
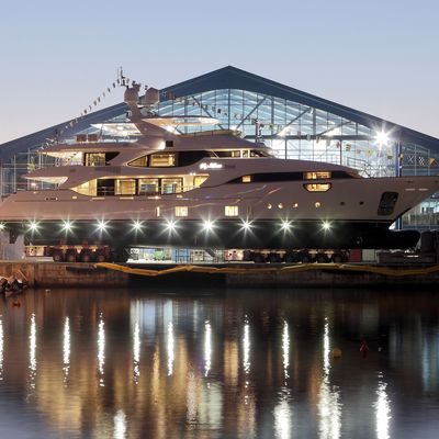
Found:
M 26 179 L 56 189 L 2 201 L 0 222 L 12 237 L 116 248 L 404 247 L 418 235 L 395 239 L 390 225 L 439 190 L 439 177 L 362 178 L 342 166 L 278 159 L 233 132 L 178 135 L 145 117 L 136 85 L 125 102 L 138 140 L 44 149 L 59 166 Z

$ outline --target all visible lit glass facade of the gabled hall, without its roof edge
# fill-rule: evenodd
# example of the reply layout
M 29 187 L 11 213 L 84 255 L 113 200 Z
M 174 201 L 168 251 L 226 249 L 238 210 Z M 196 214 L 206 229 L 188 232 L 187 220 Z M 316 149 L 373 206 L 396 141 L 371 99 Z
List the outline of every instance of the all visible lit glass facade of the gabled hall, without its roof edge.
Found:
M 153 115 L 181 121 L 172 127 L 176 133 L 232 130 L 246 139 L 263 143 L 275 157 L 283 159 L 344 165 L 357 169 L 363 177 L 439 175 L 438 153 L 405 142 L 401 136 L 393 138 L 392 128 L 386 131 L 384 125 L 374 126 L 372 123 L 367 126 L 279 97 L 234 88 L 180 97 L 162 92 L 160 102 L 149 110 Z M 187 117 L 192 123 L 187 124 Z M 194 125 L 196 117 L 203 117 L 203 123 Z M 77 140 L 80 136 L 81 142 L 95 138 L 100 142 L 131 142 L 136 139 L 138 132 L 123 113 L 93 123 L 74 135 Z M 20 176 L 37 167 L 53 166 L 58 160 L 36 155 L 35 149 L 41 147 L 44 145 L 35 145 L 2 165 L 3 196 L 20 189 L 32 189 L 35 183 L 20 179 Z M 36 184 L 42 188 L 41 183 Z M 397 225 L 418 228 L 438 226 L 439 198 L 431 198 L 416 206 Z

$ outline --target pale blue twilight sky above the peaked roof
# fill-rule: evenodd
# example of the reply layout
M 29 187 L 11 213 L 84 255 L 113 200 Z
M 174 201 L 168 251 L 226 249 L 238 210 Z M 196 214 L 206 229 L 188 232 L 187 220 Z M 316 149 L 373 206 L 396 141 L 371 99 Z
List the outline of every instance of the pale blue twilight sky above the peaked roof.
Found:
M 3 1 L 0 60 L 0 144 L 79 116 L 117 66 L 162 88 L 232 65 L 439 137 L 439 0 Z

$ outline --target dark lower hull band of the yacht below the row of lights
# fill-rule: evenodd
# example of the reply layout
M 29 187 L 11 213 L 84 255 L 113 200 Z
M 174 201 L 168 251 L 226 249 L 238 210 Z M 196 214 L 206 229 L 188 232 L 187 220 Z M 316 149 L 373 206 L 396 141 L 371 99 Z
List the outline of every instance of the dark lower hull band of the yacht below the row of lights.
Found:
M 69 230 L 65 223 L 40 222 L 35 230 L 29 223 L 9 223 L 11 237 L 23 234 L 27 245 L 109 245 L 171 246 L 180 248 L 301 249 L 301 248 L 407 248 L 416 245 L 415 230 L 391 232 L 389 222 L 362 221 L 254 221 L 245 226 L 239 219 L 217 221 L 206 228 L 201 221 L 145 221 L 135 229 L 128 221 L 78 221 Z

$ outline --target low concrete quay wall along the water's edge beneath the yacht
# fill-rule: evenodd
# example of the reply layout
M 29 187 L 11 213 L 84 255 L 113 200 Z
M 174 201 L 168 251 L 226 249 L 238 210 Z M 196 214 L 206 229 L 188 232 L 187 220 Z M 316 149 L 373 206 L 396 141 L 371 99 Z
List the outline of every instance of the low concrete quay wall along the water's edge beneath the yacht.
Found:
M 157 267 L 165 269 L 164 266 Z M 95 267 L 94 263 L 68 263 L 48 261 L 0 261 L 0 275 L 25 279 L 30 286 L 40 288 L 123 288 L 128 284 L 150 286 L 181 285 L 198 288 L 226 285 L 230 288 L 373 288 L 399 285 L 405 288 L 439 286 L 439 270 L 417 275 L 384 275 L 367 271 L 334 271 L 316 269 L 299 272 L 258 271 L 258 267 L 239 273 L 176 272 L 158 277 L 128 274 Z

